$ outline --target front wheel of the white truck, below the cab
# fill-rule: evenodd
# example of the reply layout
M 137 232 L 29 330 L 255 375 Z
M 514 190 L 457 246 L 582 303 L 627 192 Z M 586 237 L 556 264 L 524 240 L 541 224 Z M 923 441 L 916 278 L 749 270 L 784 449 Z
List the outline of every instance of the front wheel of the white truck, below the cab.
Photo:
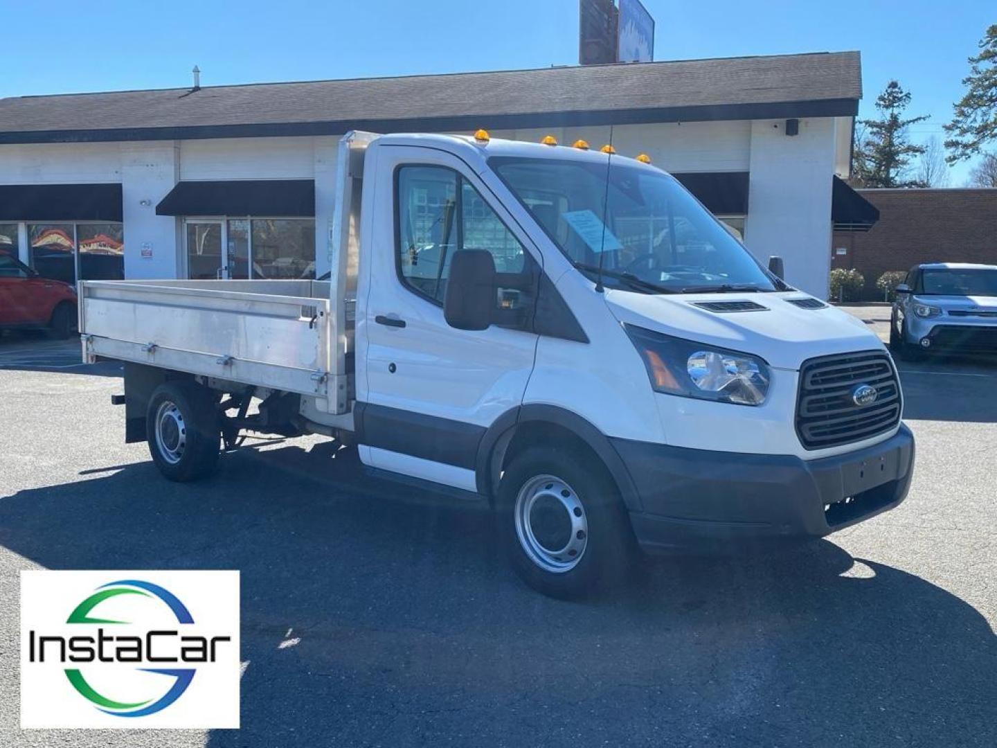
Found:
M 619 492 L 589 455 L 529 447 L 514 457 L 498 486 L 498 521 L 516 573 L 551 597 L 608 588 L 634 561 Z

